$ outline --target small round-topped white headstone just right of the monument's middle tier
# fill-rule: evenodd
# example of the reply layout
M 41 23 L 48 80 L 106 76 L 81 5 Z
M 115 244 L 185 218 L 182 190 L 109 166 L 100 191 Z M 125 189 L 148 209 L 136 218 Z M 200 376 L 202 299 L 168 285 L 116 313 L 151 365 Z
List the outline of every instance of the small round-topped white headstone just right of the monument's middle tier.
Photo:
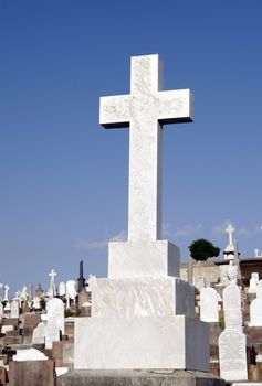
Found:
M 218 293 L 211 287 L 200 291 L 200 320 L 208 323 L 219 321 Z

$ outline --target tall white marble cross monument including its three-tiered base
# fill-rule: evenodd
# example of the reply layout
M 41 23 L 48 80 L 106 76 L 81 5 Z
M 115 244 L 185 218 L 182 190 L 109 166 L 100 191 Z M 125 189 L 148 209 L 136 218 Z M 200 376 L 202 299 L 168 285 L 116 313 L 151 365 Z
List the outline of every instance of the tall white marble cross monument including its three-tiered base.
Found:
M 179 279 L 179 248 L 161 239 L 163 125 L 192 121 L 193 97 L 161 90 L 161 68 L 158 55 L 132 57 L 130 94 L 101 98 L 101 125 L 129 127 L 128 242 L 109 243 L 108 279 L 90 280 L 92 318 L 75 320 L 76 369 L 209 369 L 195 289 Z

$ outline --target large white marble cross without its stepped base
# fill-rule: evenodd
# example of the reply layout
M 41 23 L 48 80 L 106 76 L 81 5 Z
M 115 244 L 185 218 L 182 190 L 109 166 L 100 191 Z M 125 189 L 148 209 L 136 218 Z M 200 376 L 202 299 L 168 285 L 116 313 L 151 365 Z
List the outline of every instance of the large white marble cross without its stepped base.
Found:
M 130 128 L 129 242 L 161 238 L 161 126 L 193 119 L 190 90 L 161 90 L 161 75 L 158 55 L 134 56 L 130 94 L 101 98 L 101 125 Z

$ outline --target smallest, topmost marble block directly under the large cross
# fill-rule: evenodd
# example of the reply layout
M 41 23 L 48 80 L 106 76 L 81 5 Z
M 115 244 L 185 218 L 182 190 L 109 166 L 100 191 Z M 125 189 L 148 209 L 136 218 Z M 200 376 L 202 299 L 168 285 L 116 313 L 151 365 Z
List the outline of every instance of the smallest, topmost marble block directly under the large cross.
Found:
M 180 249 L 168 240 L 109 243 L 108 278 L 180 276 Z

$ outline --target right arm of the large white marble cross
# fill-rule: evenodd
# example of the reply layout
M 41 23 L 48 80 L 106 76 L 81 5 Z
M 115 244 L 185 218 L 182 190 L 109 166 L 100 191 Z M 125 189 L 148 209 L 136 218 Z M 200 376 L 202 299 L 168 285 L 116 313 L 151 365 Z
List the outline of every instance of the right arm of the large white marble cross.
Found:
M 192 122 L 193 94 L 190 89 L 159 92 L 158 109 L 161 124 Z

